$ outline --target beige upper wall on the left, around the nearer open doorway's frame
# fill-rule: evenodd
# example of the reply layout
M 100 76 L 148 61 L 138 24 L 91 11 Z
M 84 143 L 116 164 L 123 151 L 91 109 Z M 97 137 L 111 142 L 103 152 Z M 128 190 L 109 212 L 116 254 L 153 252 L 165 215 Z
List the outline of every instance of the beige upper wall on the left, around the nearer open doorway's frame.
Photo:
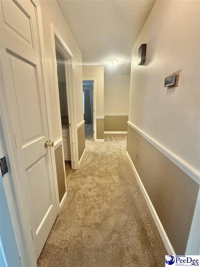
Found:
M 51 116 L 53 124 L 53 141 L 56 142 L 62 136 L 59 132 L 59 112 L 56 99 L 55 78 L 53 75 L 53 49 L 51 40 L 51 23 L 56 27 L 63 41 L 73 54 L 74 59 L 74 92 L 76 101 L 77 125 L 83 121 L 83 86 L 82 86 L 82 54 L 66 23 L 56 0 L 40 1 L 42 13 L 42 26 L 44 34 L 45 55 L 47 61 L 47 79 L 50 95 Z

